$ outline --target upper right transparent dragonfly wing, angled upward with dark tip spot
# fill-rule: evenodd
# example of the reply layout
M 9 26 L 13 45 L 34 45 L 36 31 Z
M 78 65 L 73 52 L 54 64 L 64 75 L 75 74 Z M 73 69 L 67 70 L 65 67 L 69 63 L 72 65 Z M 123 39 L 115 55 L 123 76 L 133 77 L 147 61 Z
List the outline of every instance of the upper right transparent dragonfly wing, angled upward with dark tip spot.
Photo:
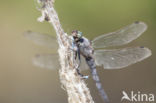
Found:
M 138 38 L 146 29 L 145 23 L 134 22 L 116 32 L 96 37 L 92 41 L 92 45 L 94 48 L 124 45 Z

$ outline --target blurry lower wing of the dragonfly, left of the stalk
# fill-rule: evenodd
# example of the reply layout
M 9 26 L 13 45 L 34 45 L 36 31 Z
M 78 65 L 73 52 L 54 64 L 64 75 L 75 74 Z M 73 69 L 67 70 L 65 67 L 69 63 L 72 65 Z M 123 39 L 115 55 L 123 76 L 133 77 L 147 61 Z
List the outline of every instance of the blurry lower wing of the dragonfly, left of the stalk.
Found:
M 33 64 L 46 69 L 59 69 L 59 56 L 57 54 L 37 54 L 33 58 Z

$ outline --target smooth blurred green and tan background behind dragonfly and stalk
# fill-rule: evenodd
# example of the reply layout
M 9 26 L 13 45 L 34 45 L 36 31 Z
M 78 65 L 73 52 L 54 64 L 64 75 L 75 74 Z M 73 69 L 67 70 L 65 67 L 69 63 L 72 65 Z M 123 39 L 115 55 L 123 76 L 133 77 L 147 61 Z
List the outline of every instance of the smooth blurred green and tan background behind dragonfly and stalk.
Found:
M 56 35 L 49 23 L 37 22 L 35 6 L 34 0 L 0 0 L 0 103 L 67 103 L 58 71 L 31 63 L 35 54 L 53 50 L 22 36 L 27 30 Z M 155 0 L 56 0 L 55 8 L 65 32 L 78 29 L 89 39 L 136 20 L 147 23 L 148 30 L 128 46 L 146 46 L 153 55 L 125 69 L 98 73 L 111 103 L 120 103 L 122 90 L 156 94 Z M 92 79 L 86 82 L 95 102 L 102 103 Z

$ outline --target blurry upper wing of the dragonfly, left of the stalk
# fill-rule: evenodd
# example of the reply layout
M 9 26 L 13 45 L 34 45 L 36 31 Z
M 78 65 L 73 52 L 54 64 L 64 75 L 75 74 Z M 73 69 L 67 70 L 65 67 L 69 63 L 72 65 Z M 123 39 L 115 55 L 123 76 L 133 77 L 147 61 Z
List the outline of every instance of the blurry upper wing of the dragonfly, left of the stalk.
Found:
M 57 49 L 58 47 L 56 38 L 47 34 L 27 31 L 24 33 L 24 36 L 38 45 L 46 46 L 53 49 Z

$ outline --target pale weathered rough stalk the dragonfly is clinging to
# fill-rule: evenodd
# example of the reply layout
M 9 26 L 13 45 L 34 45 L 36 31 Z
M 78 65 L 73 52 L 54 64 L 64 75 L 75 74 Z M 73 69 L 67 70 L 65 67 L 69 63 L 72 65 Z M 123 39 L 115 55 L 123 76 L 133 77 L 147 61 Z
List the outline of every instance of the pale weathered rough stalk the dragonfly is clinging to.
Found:
M 60 24 L 58 15 L 54 9 L 54 0 L 38 0 L 42 4 L 42 16 L 38 19 L 41 21 L 48 21 L 53 25 L 59 44 L 59 56 L 61 69 L 59 70 L 60 81 L 67 91 L 69 103 L 94 103 L 90 91 L 87 88 L 84 80 L 76 72 L 77 63 L 73 59 L 73 51 L 68 35 L 64 33 Z

